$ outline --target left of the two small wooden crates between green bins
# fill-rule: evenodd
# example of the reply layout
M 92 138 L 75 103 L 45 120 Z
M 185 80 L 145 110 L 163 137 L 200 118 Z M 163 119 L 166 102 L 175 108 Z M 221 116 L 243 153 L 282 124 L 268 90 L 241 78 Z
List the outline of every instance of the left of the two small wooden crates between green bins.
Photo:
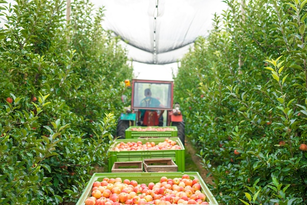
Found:
M 143 172 L 143 161 L 114 162 L 111 172 Z

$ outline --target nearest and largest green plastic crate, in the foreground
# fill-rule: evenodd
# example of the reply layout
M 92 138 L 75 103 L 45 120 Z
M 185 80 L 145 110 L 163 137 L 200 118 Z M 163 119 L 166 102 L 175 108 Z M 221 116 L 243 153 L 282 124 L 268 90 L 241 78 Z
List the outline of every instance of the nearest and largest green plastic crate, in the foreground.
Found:
M 190 176 L 190 179 L 199 179 L 199 182 L 201 184 L 201 190 L 206 195 L 206 201 L 210 205 L 218 205 L 218 202 L 214 198 L 213 194 L 205 184 L 205 181 L 202 179 L 200 174 L 198 172 L 133 172 L 133 173 L 94 173 L 92 178 L 87 183 L 81 197 L 77 201 L 76 205 L 84 205 L 85 200 L 91 196 L 92 193 L 92 185 L 94 181 L 102 181 L 103 178 L 117 178 L 120 177 L 123 180 L 129 179 L 129 180 L 136 180 L 139 184 L 140 183 L 146 183 L 149 182 L 158 182 L 162 176 L 165 176 L 167 178 L 181 178 L 182 175 L 187 174 Z

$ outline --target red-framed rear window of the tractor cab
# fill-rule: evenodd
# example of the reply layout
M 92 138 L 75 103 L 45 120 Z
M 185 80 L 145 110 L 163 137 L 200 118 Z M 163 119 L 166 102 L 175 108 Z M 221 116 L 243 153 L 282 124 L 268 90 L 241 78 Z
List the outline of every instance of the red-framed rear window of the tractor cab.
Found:
M 135 80 L 132 82 L 132 108 L 170 110 L 173 82 Z

